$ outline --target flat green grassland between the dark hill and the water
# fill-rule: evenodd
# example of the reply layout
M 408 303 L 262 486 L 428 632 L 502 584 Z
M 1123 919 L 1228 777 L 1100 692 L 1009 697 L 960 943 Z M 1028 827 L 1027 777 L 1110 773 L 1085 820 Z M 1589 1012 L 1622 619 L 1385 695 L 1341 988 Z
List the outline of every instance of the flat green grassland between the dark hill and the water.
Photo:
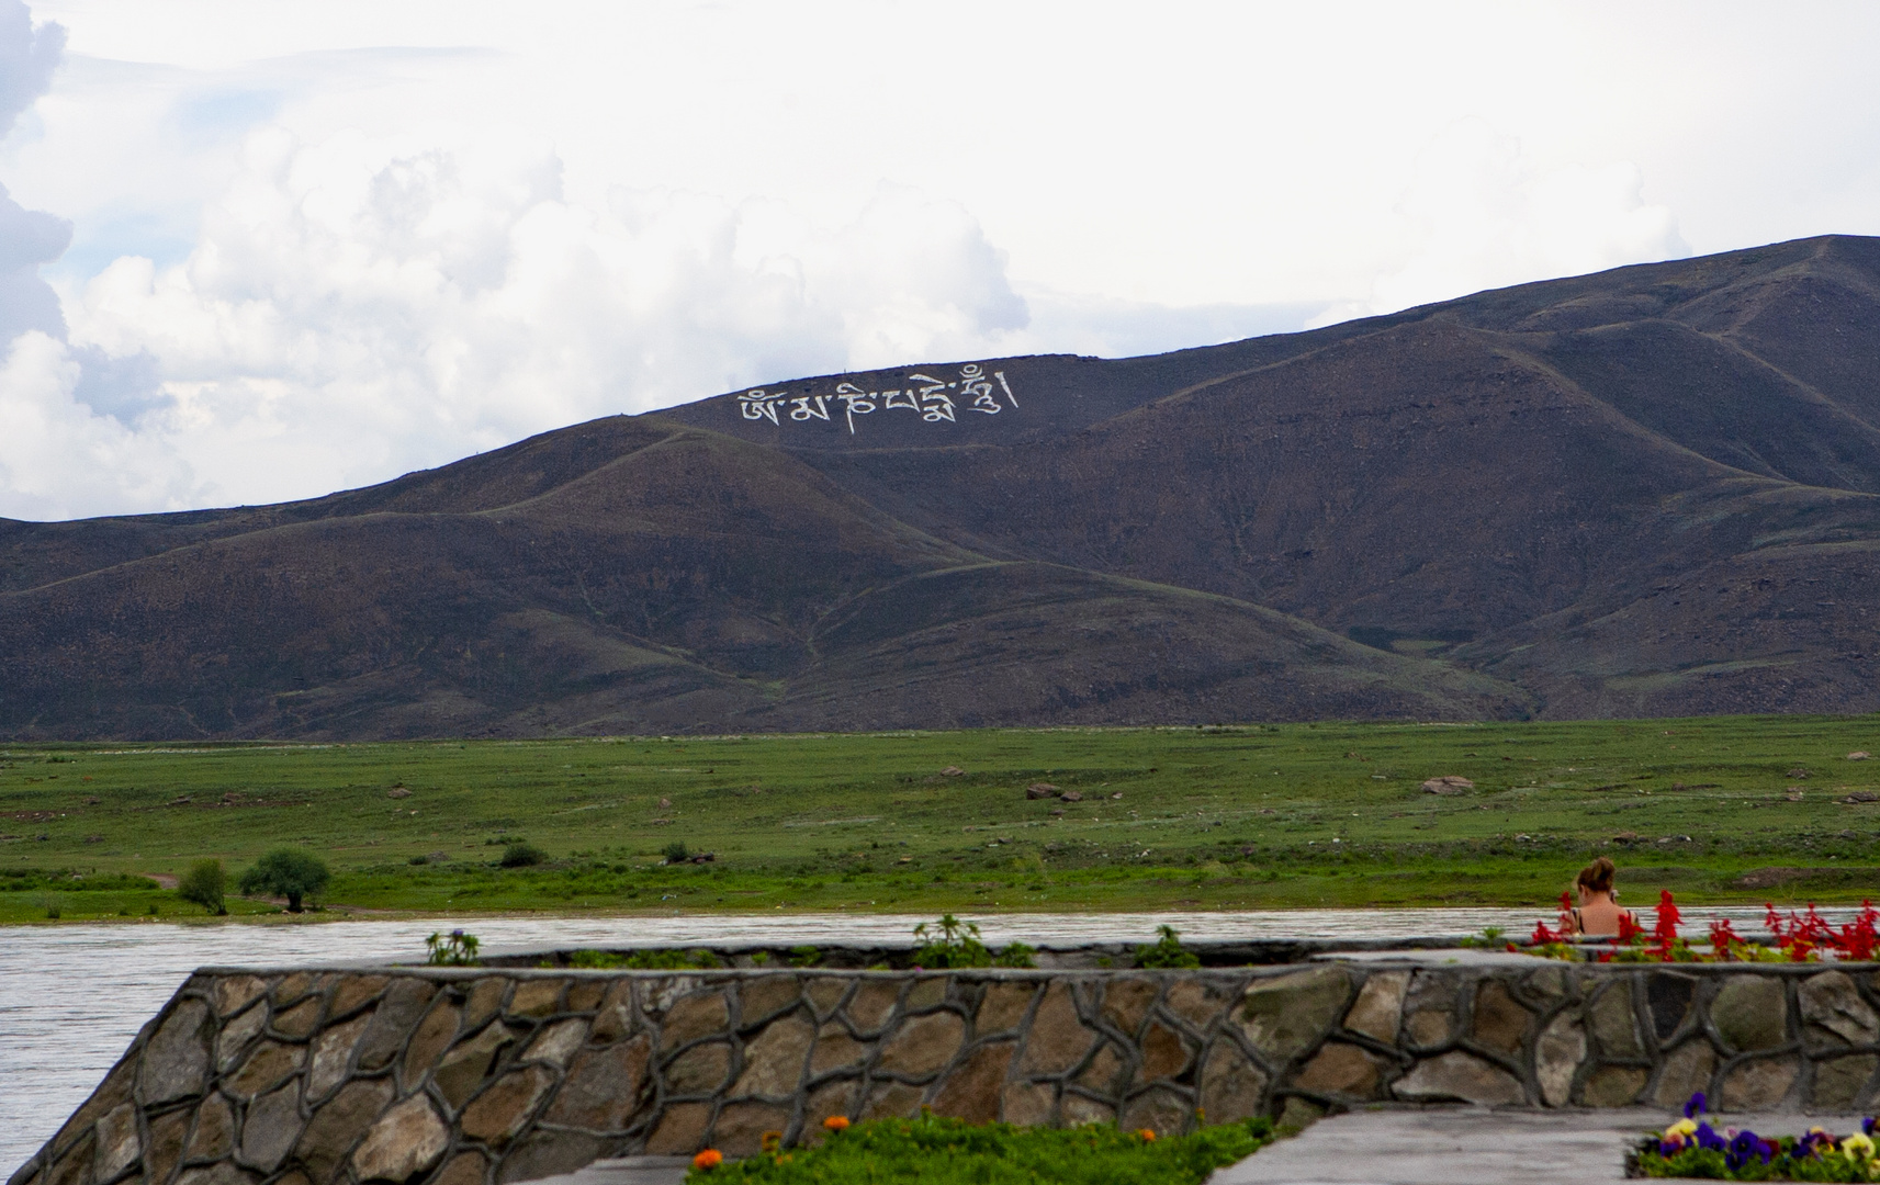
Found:
M 278 845 L 333 867 L 321 916 L 1545 912 L 1596 852 L 1630 903 L 1846 903 L 1880 897 L 1880 801 L 1844 801 L 1880 788 L 1859 749 L 1880 720 L 13 745 L 0 922 L 201 916 L 126 877 L 239 875 Z M 1434 775 L 1476 786 L 1425 794 Z M 1038 781 L 1083 799 L 1026 799 Z M 519 841 L 545 863 L 498 867 Z M 714 860 L 664 865 L 673 843 Z

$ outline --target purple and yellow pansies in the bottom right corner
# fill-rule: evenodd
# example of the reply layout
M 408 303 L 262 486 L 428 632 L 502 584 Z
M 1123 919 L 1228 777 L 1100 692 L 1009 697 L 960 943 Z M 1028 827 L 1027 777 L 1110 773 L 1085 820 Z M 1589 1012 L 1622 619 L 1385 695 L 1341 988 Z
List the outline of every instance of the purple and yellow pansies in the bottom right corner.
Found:
M 1716 1130 L 1703 1110 L 1705 1097 L 1692 1095 L 1684 1117 L 1647 1136 L 1630 1168 L 1645 1177 L 1707 1181 L 1880 1181 L 1872 1117 L 1848 1136 L 1822 1127 L 1801 1136 L 1760 1136 L 1735 1127 Z

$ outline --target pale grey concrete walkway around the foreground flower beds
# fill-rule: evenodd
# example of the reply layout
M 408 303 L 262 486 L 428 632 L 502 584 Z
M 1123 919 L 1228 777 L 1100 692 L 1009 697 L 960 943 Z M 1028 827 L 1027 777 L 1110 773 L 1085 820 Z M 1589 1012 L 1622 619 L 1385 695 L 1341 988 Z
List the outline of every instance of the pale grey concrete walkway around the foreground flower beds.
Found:
M 1209 1185 L 1609 1185 L 1626 1151 L 1675 1115 L 1660 1108 L 1530 1112 L 1466 1106 L 1376 1108 L 1320 1119 L 1216 1170 Z M 1713 1115 L 1765 1136 L 1820 1123 L 1859 1130 L 1859 1115 Z M 622 1157 L 532 1185 L 679 1185 L 688 1157 Z

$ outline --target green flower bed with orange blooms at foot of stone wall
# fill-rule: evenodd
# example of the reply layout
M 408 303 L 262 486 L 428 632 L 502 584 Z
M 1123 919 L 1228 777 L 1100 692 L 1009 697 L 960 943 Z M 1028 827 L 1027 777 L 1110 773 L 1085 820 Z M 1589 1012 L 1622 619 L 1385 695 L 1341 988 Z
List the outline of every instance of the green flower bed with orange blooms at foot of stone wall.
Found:
M 688 1185 L 1199 1185 L 1222 1164 L 1273 1140 L 1265 1119 L 1207 1127 L 1190 1136 L 1107 1125 L 1026 1129 L 921 1115 L 831 1127 L 816 1147 L 771 1147 L 729 1162 L 699 1153 Z M 1865 1179 L 1865 1177 L 1863 1177 Z

